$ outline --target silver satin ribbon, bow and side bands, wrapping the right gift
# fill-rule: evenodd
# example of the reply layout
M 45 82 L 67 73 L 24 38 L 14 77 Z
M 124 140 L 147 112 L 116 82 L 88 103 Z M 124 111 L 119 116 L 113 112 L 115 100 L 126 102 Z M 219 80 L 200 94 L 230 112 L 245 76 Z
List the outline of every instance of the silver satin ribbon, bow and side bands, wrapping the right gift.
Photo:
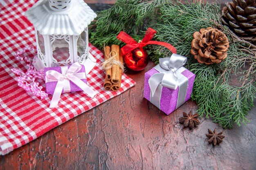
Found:
M 186 88 L 188 79 L 182 75 L 183 67 L 187 58 L 181 55 L 173 54 L 168 58 L 160 58 L 159 64 L 154 68 L 159 72 L 152 75 L 148 84 L 150 87 L 150 102 L 160 108 L 160 99 L 162 87 L 177 89 L 179 86 L 176 108 L 184 103 L 186 97 Z

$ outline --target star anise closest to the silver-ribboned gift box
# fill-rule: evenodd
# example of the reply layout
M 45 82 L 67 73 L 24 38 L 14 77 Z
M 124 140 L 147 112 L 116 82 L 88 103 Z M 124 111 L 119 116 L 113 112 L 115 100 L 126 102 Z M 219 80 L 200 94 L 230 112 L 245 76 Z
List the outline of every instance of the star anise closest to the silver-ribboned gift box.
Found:
M 198 114 L 192 115 L 192 110 L 190 110 L 189 114 L 183 112 L 183 117 L 181 117 L 179 121 L 181 124 L 184 124 L 184 127 L 189 126 L 189 128 L 193 128 L 200 124 Z

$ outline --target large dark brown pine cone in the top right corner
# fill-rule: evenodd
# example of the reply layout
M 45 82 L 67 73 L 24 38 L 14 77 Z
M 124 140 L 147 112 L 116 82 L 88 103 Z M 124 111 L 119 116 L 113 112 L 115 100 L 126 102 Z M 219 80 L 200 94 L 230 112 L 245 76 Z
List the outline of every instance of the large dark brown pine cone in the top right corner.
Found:
M 255 0 L 233 0 L 222 9 L 222 23 L 244 40 L 256 42 Z

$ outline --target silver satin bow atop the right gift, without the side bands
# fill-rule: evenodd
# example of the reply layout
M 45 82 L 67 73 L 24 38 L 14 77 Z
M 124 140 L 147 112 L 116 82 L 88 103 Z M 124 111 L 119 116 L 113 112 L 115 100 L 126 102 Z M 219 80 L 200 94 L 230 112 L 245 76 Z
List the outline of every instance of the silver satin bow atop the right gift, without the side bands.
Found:
M 165 72 L 156 73 L 149 78 L 148 84 L 152 92 L 152 96 L 154 96 L 159 84 L 171 89 L 177 88 L 179 85 L 178 77 L 180 77 L 177 74 L 181 74 L 177 72 L 177 69 L 182 67 L 186 63 L 186 60 L 186 57 L 177 54 L 173 54 L 168 58 L 159 59 L 159 66 L 164 69 Z

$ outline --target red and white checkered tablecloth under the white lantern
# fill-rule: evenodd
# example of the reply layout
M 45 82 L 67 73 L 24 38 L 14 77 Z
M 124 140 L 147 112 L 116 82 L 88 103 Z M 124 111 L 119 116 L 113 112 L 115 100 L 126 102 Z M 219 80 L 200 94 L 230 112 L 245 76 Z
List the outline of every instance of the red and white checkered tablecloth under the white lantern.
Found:
M 105 73 L 100 66 L 103 54 L 90 44 L 90 52 L 97 65 L 88 75 L 88 83 L 97 97 L 88 98 L 83 92 L 61 95 L 57 108 L 49 108 L 52 95 L 39 99 L 18 86 L 11 68 L 25 70 L 25 63 L 18 62 L 14 53 L 25 46 L 36 46 L 34 26 L 24 16 L 36 0 L 0 0 L 0 155 L 5 155 L 52 128 L 115 97 L 135 82 L 127 75 L 122 77 L 121 89 L 105 91 Z M 35 54 L 30 54 L 32 57 Z M 42 85 L 43 81 L 39 81 Z

